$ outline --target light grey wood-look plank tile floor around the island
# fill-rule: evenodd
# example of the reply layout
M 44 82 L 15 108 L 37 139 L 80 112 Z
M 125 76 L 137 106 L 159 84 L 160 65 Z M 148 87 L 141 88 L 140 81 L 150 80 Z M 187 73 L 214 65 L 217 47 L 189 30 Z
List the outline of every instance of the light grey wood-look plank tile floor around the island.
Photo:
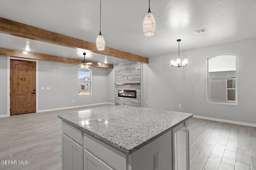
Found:
M 0 170 L 61 169 L 61 120 L 57 115 L 110 105 L 0 118 Z M 256 170 L 256 127 L 190 119 L 190 170 Z M 27 161 L 27 164 L 25 163 Z

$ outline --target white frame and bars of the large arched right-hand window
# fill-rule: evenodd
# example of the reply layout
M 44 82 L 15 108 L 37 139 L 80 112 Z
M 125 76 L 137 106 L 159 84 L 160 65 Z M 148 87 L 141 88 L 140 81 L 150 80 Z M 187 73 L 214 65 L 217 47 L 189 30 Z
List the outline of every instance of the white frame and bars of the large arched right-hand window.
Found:
M 236 57 L 236 77 L 228 77 L 228 78 L 209 78 L 209 60 L 214 58 L 214 57 L 218 57 L 218 56 L 222 56 L 222 55 L 230 55 L 230 56 L 234 56 Z M 226 104 L 226 105 L 238 105 L 238 81 L 237 81 L 237 55 L 236 54 L 218 54 L 218 55 L 214 55 L 212 57 L 209 57 L 206 59 L 206 101 L 207 103 L 218 103 L 218 104 Z M 211 101 L 210 100 L 210 80 L 226 80 L 226 101 Z M 228 80 L 235 80 L 235 101 L 228 101 L 228 88 L 227 88 L 227 81 Z

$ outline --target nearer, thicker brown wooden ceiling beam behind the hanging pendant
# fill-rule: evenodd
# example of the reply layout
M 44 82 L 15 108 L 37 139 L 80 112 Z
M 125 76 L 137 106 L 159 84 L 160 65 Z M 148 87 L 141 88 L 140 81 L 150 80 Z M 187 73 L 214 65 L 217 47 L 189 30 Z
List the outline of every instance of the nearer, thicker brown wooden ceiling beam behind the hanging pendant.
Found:
M 63 45 L 67 47 L 87 49 L 96 53 L 100 53 L 103 55 L 110 55 L 110 56 L 118 57 L 122 59 L 148 63 L 148 58 L 142 57 L 140 55 L 128 53 L 125 51 L 120 51 L 118 49 L 114 49 L 110 47 L 105 47 L 103 51 L 99 51 L 96 48 L 95 43 L 87 42 L 87 41 L 80 40 L 78 38 L 73 38 L 70 36 L 65 36 L 63 34 L 58 34 L 56 32 L 51 32 L 48 30 L 44 30 L 41 28 L 37 28 L 34 26 L 30 26 L 27 24 L 8 20 L 6 18 L 1 18 L 1 17 L 0 17 L 0 32 L 5 34 L 10 34 L 13 36 L 29 38 L 32 40 L 38 40 L 42 42 Z

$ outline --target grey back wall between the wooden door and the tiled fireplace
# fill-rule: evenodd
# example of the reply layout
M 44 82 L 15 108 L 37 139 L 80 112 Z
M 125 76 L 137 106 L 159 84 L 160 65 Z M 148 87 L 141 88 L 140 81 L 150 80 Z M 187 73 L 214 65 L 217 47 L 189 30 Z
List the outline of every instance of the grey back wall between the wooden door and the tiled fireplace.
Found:
M 90 67 L 92 96 L 78 96 L 78 67 L 66 63 L 39 61 L 38 111 L 108 102 L 109 70 Z M 50 87 L 50 90 L 46 90 L 46 87 Z

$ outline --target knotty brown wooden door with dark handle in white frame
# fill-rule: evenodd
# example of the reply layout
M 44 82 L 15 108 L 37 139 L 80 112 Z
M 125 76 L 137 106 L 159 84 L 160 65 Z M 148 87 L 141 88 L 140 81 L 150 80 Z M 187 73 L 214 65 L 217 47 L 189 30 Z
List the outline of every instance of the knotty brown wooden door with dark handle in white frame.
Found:
M 10 59 L 10 115 L 36 112 L 36 62 Z

